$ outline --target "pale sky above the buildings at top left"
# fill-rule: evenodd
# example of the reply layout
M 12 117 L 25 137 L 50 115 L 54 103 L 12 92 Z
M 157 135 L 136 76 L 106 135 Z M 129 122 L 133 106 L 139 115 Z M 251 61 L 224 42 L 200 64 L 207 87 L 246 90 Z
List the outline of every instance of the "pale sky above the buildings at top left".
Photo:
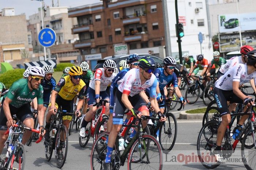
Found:
M 78 7 L 87 4 L 99 3 L 101 0 L 59 0 L 60 6 Z M 45 6 L 52 6 L 52 0 L 44 0 Z M 53 0 L 57 6 L 57 0 Z M 3 8 L 12 7 L 15 10 L 15 15 L 26 13 L 26 18 L 30 15 L 38 13 L 40 1 L 37 0 L 0 0 L 0 11 Z

